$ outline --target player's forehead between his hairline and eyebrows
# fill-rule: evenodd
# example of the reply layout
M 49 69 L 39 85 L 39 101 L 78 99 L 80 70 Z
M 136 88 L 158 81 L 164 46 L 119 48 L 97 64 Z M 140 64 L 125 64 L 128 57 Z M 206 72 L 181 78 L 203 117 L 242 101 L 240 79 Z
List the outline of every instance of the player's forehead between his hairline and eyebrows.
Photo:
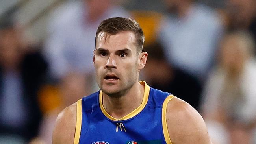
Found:
M 133 49 L 136 46 L 137 38 L 132 31 L 121 31 L 115 35 L 100 32 L 96 38 L 96 49 Z

